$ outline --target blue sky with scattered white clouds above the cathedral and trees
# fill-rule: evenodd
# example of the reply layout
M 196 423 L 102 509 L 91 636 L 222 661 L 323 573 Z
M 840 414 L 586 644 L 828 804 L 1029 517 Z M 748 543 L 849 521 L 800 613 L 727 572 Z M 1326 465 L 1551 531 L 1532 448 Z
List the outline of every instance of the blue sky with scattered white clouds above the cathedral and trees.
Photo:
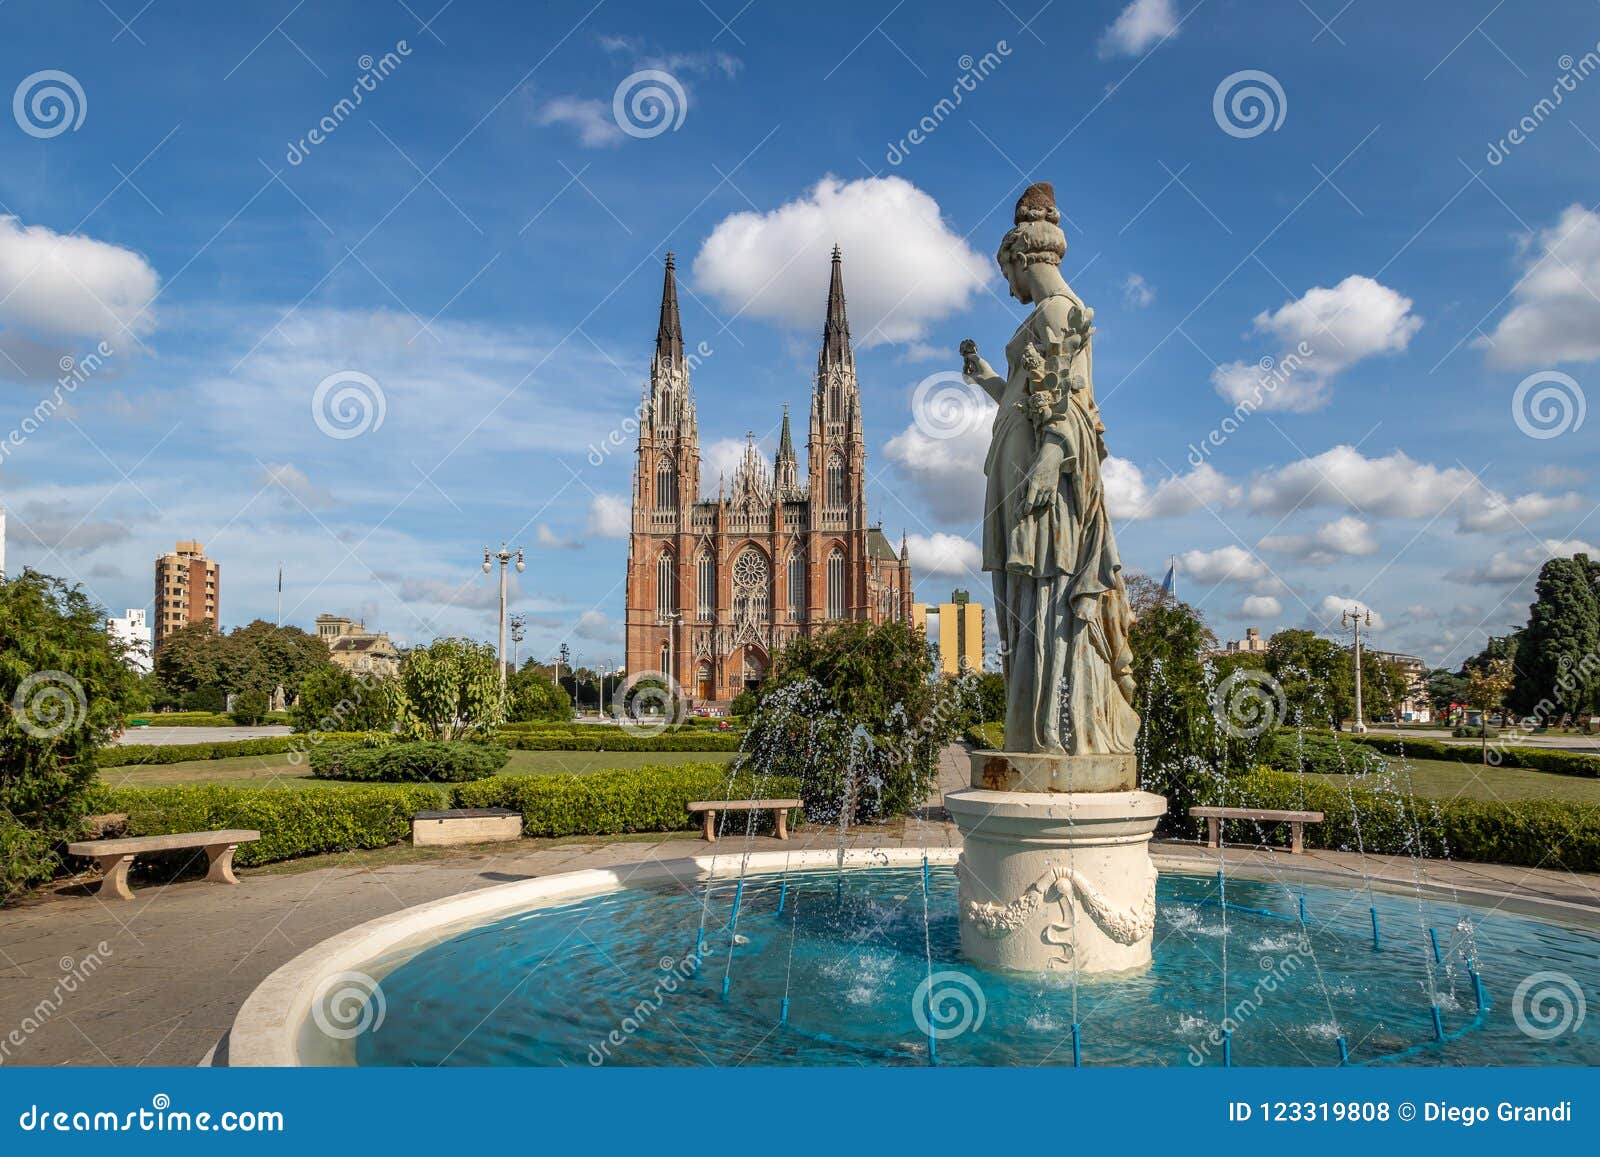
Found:
M 1037 179 L 1098 312 L 1123 558 L 1179 555 L 1222 637 L 1357 600 L 1454 664 L 1600 541 L 1594 3 L 438 3 L 0 6 L 10 570 L 117 613 L 195 538 L 224 626 L 275 613 L 282 560 L 286 621 L 416 642 L 491 635 L 509 539 L 525 655 L 616 661 L 632 442 L 589 448 L 666 251 L 714 486 L 805 413 L 837 242 L 874 514 L 922 597 L 976 595 L 986 414 L 949 371 L 1021 320 L 992 254 Z

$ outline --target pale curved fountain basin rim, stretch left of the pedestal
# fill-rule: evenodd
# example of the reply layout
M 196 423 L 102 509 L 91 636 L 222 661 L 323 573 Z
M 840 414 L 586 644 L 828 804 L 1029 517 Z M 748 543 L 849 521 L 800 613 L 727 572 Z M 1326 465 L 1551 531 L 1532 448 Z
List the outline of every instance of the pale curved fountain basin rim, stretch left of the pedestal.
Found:
M 947 867 L 960 858 L 960 848 L 859 848 L 846 851 L 843 864 L 837 850 L 723 851 L 682 859 L 619 864 L 605 869 L 558 872 L 531 880 L 515 880 L 490 888 L 390 912 L 347 928 L 314 944 L 274 970 L 245 999 L 227 1034 L 230 1067 L 298 1067 L 299 1034 L 310 1018 L 312 995 L 318 984 L 341 971 L 371 968 L 384 957 L 403 949 L 421 951 L 466 928 L 536 907 L 602 896 L 642 883 L 662 880 L 706 882 L 733 880 L 744 872 L 805 872 L 843 867 L 917 867 L 923 863 Z

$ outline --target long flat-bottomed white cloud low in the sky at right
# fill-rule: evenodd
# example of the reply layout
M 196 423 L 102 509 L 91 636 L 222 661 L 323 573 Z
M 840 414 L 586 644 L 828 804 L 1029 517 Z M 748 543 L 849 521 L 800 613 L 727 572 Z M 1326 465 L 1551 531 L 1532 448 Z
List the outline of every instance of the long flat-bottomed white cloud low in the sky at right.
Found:
M 1400 450 L 1366 458 L 1355 446 L 1333 446 L 1262 470 L 1250 480 L 1245 501 L 1258 514 L 1342 506 L 1368 517 L 1434 518 L 1454 510 L 1458 528 L 1485 531 L 1571 510 L 1582 498 L 1576 493 L 1507 498 L 1464 467 L 1418 462 Z

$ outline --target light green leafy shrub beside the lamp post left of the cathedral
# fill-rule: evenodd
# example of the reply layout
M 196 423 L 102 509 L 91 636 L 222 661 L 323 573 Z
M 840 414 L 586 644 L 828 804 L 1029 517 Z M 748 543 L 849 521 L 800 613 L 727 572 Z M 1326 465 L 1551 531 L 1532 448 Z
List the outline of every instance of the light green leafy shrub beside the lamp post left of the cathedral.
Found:
M 400 728 L 418 739 L 493 735 L 504 719 L 494 648 L 435 639 L 400 659 Z

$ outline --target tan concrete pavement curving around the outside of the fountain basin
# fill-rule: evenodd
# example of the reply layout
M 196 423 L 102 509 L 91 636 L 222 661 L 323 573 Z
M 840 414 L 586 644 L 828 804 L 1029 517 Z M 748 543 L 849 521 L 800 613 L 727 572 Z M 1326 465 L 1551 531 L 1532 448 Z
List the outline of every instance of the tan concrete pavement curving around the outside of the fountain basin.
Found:
M 950 747 L 939 767 L 941 794 L 904 823 L 859 832 L 853 847 L 955 847 L 942 816 L 942 791 L 965 786 L 966 751 Z M 789 843 L 755 837 L 760 851 L 832 848 L 837 831 L 808 826 Z M 734 863 L 739 835 L 715 848 Z M 408 863 L 373 866 L 382 853 L 323 856 L 315 866 L 242 869 L 237 888 L 200 880 L 144 885 L 130 903 L 78 891 L 40 893 L 0 914 L 0 1063 L 197 1064 L 232 1024 L 245 997 L 270 971 L 328 936 L 374 917 L 442 896 L 582 867 L 614 867 L 704 855 L 688 834 L 646 839 L 520 840 L 485 848 L 410 853 Z M 1162 869 L 1211 872 L 1218 851 L 1194 843 L 1152 845 Z M 1264 879 L 1410 891 L 1416 866 L 1400 856 L 1226 848 L 1229 872 Z M 1506 907 L 1600 930 L 1600 875 L 1494 864 L 1429 861 L 1426 883 L 1445 899 Z M 101 946 L 104 944 L 104 951 Z M 85 973 L 62 994 L 62 976 Z M 51 1008 L 53 1002 L 59 1005 Z M 13 1037 L 13 1034 L 16 1034 Z M 16 1040 L 21 1043 L 16 1043 Z

